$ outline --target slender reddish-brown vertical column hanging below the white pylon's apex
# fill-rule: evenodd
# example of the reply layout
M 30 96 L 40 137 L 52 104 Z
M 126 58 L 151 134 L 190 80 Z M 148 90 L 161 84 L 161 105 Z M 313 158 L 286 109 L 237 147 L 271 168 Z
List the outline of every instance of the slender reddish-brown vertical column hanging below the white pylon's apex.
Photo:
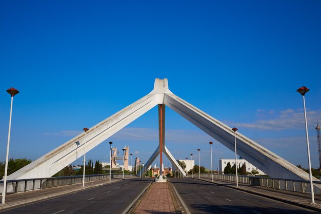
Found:
M 159 175 L 163 175 L 163 146 L 165 145 L 165 105 L 158 104 Z

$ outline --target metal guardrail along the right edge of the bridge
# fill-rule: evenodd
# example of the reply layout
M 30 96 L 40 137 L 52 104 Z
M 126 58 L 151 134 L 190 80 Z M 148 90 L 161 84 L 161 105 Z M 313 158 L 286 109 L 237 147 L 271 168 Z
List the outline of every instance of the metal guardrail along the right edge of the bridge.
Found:
M 187 176 L 191 178 L 189 174 Z M 194 174 L 193 178 L 198 178 L 198 174 Z M 200 174 L 200 178 L 211 179 L 210 173 Z M 278 190 L 286 190 L 300 193 L 311 193 L 310 181 L 306 180 L 290 180 L 268 177 L 256 177 L 256 176 L 237 176 L 238 183 L 248 184 L 252 186 L 263 186 L 267 188 L 273 188 Z M 235 174 L 213 174 L 213 179 L 221 181 L 229 181 L 236 183 Z M 314 194 L 321 196 L 321 181 L 313 181 Z

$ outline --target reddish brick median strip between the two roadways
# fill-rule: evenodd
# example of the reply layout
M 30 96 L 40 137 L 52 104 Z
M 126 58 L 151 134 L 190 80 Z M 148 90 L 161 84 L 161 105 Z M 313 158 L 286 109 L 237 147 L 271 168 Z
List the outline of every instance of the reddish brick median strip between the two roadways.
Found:
M 142 199 L 137 202 L 134 211 L 135 214 L 168 214 L 168 213 L 182 213 L 178 203 L 173 196 L 168 182 L 152 183 L 150 188 L 144 194 Z

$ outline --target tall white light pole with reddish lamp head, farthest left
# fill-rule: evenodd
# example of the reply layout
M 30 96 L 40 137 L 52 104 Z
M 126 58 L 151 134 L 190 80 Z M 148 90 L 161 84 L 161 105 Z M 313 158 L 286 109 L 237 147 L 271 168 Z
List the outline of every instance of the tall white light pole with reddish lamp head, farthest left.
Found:
M 6 191 L 7 191 L 7 171 L 8 171 L 8 158 L 9 158 L 9 144 L 10 144 L 10 131 L 11 131 L 11 116 L 12 116 L 12 104 L 13 104 L 13 96 L 19 93 L 19 91 L 15 88 L 9 88 L 7 90 L 8 93 L 11 94 L 11 106 L 10 106 L 10 117 L 9 117 L 9 131 L 8 131 L 8 142 L 7 142 L 7 154 L 6 154 L 6 164 L 5 164 L 5 174 L 4 174 L 4 188 L 2 191 L 2 204 L 5 204 L 6 200 Z

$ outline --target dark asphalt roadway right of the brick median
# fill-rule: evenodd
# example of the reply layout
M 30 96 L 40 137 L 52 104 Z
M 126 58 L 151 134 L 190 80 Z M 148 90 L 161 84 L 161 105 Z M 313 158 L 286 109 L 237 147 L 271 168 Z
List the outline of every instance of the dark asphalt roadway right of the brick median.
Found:
M 196 179 L 171 178 L 191 213 L 318 213 Z

